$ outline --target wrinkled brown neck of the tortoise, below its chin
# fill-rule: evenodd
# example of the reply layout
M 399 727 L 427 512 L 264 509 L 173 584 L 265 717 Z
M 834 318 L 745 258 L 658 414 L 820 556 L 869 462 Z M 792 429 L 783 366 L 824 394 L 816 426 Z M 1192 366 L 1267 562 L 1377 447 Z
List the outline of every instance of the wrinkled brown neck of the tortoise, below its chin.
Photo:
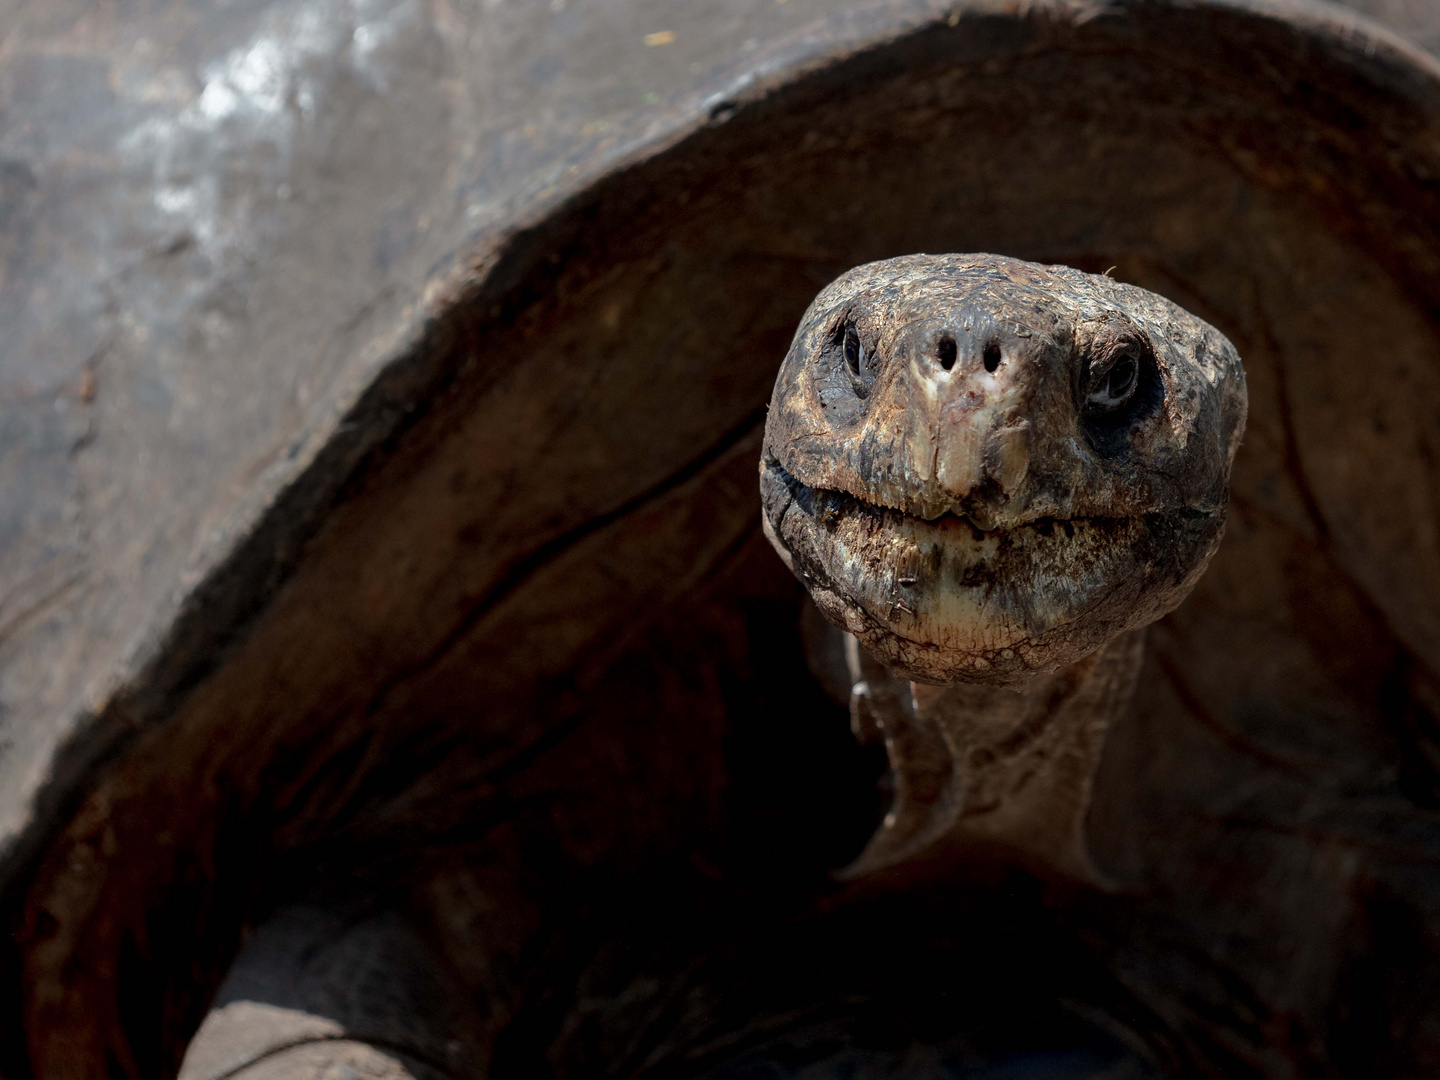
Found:
M 1143 629 L 1130 631 L 1020 688 L 936 687 L 893 675 L 835 632 L 821 647 L 844 651 L 851 730 L 884 740 L 894 783 L 884 822 L 842 876 L 955 848 L 1110 887 L 1090 858 L 1084 819 L 1106 732 L 1135 696 L 1143 642 Z M 834 670 L 829 658 L 811 662 Z

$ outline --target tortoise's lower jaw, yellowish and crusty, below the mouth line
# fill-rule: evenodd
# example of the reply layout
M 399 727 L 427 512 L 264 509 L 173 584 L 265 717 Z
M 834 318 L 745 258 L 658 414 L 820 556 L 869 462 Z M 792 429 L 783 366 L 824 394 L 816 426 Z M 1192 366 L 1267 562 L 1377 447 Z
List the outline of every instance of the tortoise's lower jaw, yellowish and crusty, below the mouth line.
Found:
M 1176 516 L 1176 533 L 1151 516 L 982 533 L 816 492 L 778 469 L 766 487 L 772 541 L 821 611 L 922 683 L 1014 684 L 1083 660 L 1171 611 L 1223 527 Z

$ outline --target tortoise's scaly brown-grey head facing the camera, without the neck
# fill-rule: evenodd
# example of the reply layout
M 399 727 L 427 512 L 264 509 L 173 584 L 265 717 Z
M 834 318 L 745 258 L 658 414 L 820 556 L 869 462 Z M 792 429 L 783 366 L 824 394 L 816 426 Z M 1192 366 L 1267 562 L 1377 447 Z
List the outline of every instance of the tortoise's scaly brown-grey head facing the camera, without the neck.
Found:
M 1018 684 L 1174 609 L 1225 526 L 1234 346 L 1145 289 L 994 255 L 858 266 L 805 312 L 765 530 L 897 674 Z

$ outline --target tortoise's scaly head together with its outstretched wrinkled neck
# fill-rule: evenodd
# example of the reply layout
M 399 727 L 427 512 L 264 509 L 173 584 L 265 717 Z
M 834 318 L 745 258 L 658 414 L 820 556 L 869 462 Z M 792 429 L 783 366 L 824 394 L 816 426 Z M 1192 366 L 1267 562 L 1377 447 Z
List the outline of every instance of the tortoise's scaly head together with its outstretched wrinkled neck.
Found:
M 1104 729 L 1139 631 L 1220 544 L 1244 418 L 1230 341 L 1106 276 L 912 255 L 815 298 L 760 492 L 776 550 L 883 664 L 852 649 L 857 730 L 897 779 L 855 870 L 965 835 L 1100 880 L 1083 816 Z

